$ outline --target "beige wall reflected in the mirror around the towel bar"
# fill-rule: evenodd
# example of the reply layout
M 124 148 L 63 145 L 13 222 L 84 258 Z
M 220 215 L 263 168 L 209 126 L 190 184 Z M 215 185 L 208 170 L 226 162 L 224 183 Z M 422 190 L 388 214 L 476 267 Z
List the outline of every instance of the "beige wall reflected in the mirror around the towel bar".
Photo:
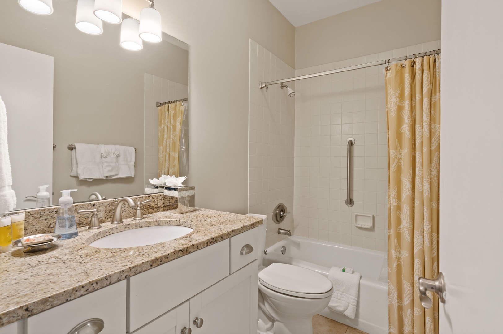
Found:
M 81 33 L 73 2 L 55 1 L 50 16 L 31 14 L 15 1 L 0 2 L 0 12 L 9 13 L 0 20 L 0 42 L 54 57 L 53 203 L 63 189 L 78 189 L 75 201 L 93 191 L 107 198 L 143 193 L 144 73 L 187 85 L 188 52 L 167 42 L 124 50 L 120 25 L 104 23 L 99 36 Z M 66 146 L 73 143 L 135 147 L 136 176 L 91 182 L 71 177 Z M 33 195 L 39 185 L 33 184 Z

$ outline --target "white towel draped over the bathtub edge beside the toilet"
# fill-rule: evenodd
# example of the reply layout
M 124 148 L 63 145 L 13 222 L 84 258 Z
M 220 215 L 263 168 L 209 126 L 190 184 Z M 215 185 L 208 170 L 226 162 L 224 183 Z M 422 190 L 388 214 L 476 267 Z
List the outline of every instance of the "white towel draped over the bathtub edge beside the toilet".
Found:
M 350 274 L 342 272 L 339 267 L 330 268 L 328 279 L 333 284 L 333 293 L 328 307 L 334 312 L 354 319 L 361 277 L 362 275 L 357 272 Z

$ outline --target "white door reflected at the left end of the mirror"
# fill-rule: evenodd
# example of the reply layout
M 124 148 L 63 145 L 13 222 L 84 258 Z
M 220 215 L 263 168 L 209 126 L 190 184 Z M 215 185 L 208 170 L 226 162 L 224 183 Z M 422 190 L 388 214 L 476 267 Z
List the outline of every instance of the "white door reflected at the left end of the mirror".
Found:
M 49 184 L 52 193 L 53 77 L 53 57 L 0 43 L 0 96 L 18 210 L 35 206 L 35 198 L 25 197 L 35 196 L 39 185 Z

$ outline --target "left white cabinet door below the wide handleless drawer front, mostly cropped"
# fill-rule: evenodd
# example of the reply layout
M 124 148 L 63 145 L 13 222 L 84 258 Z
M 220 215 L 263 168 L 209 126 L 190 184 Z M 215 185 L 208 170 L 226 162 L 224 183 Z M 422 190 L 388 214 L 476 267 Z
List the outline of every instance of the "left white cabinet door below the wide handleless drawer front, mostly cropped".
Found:
M 190 327 L 188 300 L 138 328 L 132 334 L 180 334 L 183 327 Z

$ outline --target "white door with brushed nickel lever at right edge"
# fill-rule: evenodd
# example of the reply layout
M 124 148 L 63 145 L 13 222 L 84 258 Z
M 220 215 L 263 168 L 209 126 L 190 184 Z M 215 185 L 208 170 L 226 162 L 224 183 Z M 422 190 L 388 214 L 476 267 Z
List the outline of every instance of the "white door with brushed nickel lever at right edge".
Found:
M 442 0 L 440 334 L 503 332 L 502 17 Z

